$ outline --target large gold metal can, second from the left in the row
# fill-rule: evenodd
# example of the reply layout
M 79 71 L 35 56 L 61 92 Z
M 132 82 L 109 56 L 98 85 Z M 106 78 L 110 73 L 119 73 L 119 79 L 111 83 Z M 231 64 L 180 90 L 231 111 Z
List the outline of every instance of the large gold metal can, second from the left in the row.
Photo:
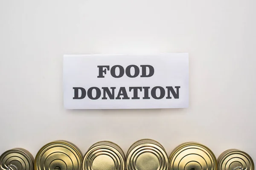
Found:
M 81 170 L 82 154 L 76 145 L 54 141 L 44 145 L 35 156 L 35 170 Z

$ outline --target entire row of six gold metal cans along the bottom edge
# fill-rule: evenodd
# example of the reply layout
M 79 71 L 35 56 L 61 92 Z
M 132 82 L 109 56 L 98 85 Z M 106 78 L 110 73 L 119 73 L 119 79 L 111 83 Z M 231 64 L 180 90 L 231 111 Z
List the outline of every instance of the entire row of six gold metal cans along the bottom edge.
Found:
M 113 142 L 97 142 L 84 157 L 76 145 L 54 141 L 44 145 L 35 160 L 22 148 L 7 150 L 0 164 L 2 170 L 254 170 L 253 160 L 241 150 L 226 150 L 217 160 L 208 147 L 187 142 L 168 157 L 164 147 L 151 139 L 132 144 L 126 156 Z

